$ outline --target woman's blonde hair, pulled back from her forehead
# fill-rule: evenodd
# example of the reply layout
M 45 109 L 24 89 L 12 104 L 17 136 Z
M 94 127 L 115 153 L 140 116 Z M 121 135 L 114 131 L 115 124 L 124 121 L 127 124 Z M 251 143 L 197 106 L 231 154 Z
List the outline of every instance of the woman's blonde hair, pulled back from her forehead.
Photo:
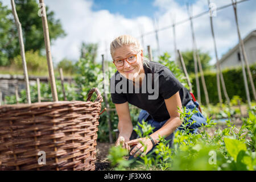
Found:
M 138 39 L 134 38 L 131 35 L 121 35 L 115 38 L 110 44 L 110 53 L 113 59 L 113 54 L 115 49 L 122 46 L 133 46 L 136 51 L 143 51 L 143 47 L 139 43 Z M 143 58 L 143 64 L 149 68 L 149 61 L 146 57 Z

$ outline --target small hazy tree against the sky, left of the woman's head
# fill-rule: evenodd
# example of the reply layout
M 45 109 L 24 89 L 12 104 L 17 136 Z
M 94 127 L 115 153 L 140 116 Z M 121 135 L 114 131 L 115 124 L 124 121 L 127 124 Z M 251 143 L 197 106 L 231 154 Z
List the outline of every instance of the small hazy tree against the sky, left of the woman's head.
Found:
M 84 58 L 91 63 L 95 63 L 97 57 L 98 44 L 84 43 L 81 46 L 81 58 Z

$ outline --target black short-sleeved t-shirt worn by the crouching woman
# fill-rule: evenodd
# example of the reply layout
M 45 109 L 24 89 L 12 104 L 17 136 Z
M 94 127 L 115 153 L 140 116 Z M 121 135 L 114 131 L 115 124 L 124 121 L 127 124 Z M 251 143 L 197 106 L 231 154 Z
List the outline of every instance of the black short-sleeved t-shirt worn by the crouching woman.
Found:
M 141 87 L 134 86 L 132 80 L 128 80 L 118 71 L 110 78 L 110 92 L 114 104 L 128 101 L 131 105 L 146 110 L 155 121 L 161 122 L 170 118 L 165 99 L 179 91 L 183 106 L 192 100 L 188 89 L 175 78 L 168 67 L 154 61 L 149 62 L 150 68 L 146 65 L 143 67 L 145 77 Z

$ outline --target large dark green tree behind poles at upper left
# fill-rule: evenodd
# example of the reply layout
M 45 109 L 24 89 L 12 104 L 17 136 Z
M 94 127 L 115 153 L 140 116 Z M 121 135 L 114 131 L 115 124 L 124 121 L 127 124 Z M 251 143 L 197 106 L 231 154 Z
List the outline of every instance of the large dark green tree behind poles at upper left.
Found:
M 1 0 L 0 0 L 0 8 L 1 8 Z M 37 51 L 42 50 L 44 48 L 44 36 L 43 36 L 43 25 L 42 19 L 38 15 L 39 7 L 38 3 L 35 0 L 15 0 L 16 11 L 19 16 L 20 23 L 22 24 L 22 32 L 23 32 L 23 40 L 25 51 Z M 2 10 L 3 9 L 3 10 Z M 8 57 L 9 63 L 16 55 L 19 55 L 19 42 L 18 34 L 16 33 L 16 27 L 14 23 L 14 18 L 11 16 L 11 11 L 3 7 L 1 9 L 1 18 L 2 16 L 4 19 L 0 20 L 0 22 L 5 23 L 5 34 L 9 36 L 8 39 L 11 43 L 11 46 L 2 48 L 1 51 L 5 52 Z M 2 14 L 2 11 L 4 14 Z M 60 20 L 54 18 L 54 12 L 49 11 L 48 6 L 46 6 L 46 14 L 48 19 L 48 26 L 49 26 L 49 36 L 51 38 L 51 42 L 56 40 L 59 37 L 65 36 L 65 32 L 61 26 Z M 10 23 L 12 22 L 12 23 Z M 0 23 L 1 28 L 2 24 Z M 0 28 L 0 30 L 1 30 Z M 1 32 L 1 31 L 0 31 Z M 1 32 L 2 34 L 2 32 Z M 10 35 L 11 34 L 11 35 Z M 13 39 L 11 39 L 13 37 Z M 1 46 L 0 46 L 1 48 Z

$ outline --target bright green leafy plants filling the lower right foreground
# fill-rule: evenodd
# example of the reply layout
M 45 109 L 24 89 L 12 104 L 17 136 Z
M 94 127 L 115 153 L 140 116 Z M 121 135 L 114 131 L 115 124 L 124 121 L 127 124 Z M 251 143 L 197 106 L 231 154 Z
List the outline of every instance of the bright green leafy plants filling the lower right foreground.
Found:
M 181 119 L 195 113 L 193 110 L 180 110 Z M 184 130 L 175 132 L 174 144 L 168 146 L 168 141 L 159 137 L 159 143 L 154 150 L 136 160 L 137 166 L 127 166 L 122 169 L 160 169 L 160 170 L 255 170 L 255 109 L 250 111 L 249 118 L 243 119 L 240 129 L 230 120 L 226 128 L 217 129 L 210 135 L 207 129 L 216 126 L 211 118 L 207 125 L 202 126 L 201 133 L 191 134 L 184 121 Z M 140 125 L 143 132 L 152 130 L 147 122 Z M 140 132 L 138 134 L 143 137 Z M 249 137 L 249 138 L 248 138 Z

